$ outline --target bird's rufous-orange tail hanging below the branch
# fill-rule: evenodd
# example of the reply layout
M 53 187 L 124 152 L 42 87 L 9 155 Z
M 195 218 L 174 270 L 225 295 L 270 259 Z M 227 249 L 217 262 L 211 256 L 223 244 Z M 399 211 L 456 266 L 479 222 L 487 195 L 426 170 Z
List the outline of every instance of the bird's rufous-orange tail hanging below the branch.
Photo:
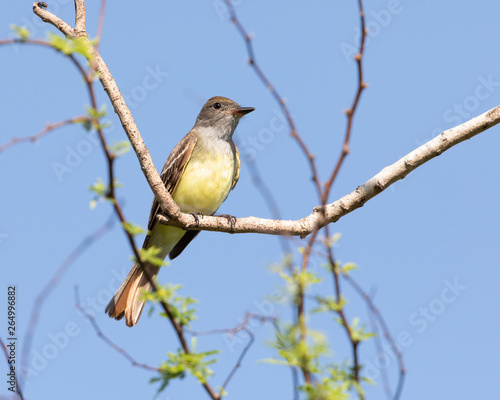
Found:
M 147 263 L 144 267 L 152 278 L 158 275 L 159 267 Z M 137 325 L 146 304 L 142 299 L 142 293 L 150 290 L 151 284 L 148 277 L 139 264 L 134 264 L 127 278 L 106 307 L 106 313 L 117 320 L 125 316 L 127 326 Z

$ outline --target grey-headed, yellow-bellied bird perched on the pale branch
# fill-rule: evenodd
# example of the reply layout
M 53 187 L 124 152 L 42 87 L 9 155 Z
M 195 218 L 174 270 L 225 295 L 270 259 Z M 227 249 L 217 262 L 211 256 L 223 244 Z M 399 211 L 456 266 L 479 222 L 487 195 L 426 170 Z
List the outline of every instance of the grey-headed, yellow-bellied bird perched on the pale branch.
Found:
M 193 128 L 174 147 L 160 174 L 182 212 L 192 213 L 195 218 L 213 215 L 234 189 L 240 176 L 240 156 L 233 133 L 240 119 L 254 110 L 221 96 L 205 103 Z M 154 198 L 143 248 L 156 246 L 158 258 L 164 260 L 168 255 L 173 260 L 200 231 L 159 224 L 156 218 L 159 214 L 160 204 Z M 160 270 L 148 262 L 144 268 L 153 278 Z M 135 326 L 146 303 L 142 293 L 150 290 L 151 283 L 136 262 L 105 312 L 116 320 L 125 317 L 127 326 Z

